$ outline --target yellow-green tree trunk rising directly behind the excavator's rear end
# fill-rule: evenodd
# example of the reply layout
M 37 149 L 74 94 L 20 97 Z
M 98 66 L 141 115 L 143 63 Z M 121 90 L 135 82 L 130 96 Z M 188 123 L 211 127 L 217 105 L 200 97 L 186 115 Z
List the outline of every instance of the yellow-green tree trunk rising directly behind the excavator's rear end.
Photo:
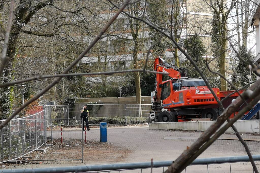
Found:
M 220 57 L 219 57 L 219 72 L 226 78 L 226 26 L 223 26 L 223 31 L 220 37 Z M 220 90 L 227 91 L 228 83 L 225 79 L 220 78 Z

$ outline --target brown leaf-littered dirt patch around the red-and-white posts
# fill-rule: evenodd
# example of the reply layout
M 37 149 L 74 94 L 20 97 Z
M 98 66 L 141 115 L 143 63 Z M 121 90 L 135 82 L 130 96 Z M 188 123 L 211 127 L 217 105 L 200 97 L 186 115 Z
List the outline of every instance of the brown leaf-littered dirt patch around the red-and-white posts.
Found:
M 53 142 L 48 140 L 47 144 L 52 144 L 45 146 L 47 148 L 42 151 L 34 151 L 27 156 L 31 156 L 32 159 L 26 159 L 24 165 L 22 162 L 20 164 L 6 164 L 2 163 L 0 166 L 5 165 L 5 169 L 14 169 L 14 168 L 25 168 L 27 165 L 37 164 L 37 167 L 47 167 L 48 164 L 57 164 L 57 165 L 66 165 L 67 164 L 78 164 L 81 163 L 79 160 L 70 160 L 66 159 L 81 159 L 82 145 L 79 143 L 79 140 L 75 139 L 66 139 L 61 143 L 60 139 L 54 139 Z M 79 145 L 75 145 L 79 144 Z M 87 141 L 83 142 L 83 160 L 84 163 L 89 162 L 122 162 L 128 154 L 131 153 L 131 150 L 122 148 L 113 143 L 108 142 L 97 142 L 97 141 Z M 33 161 L 33 160 L 63 160 L 63 161 Z M 55 163 L 54 163 L 55 162 Z

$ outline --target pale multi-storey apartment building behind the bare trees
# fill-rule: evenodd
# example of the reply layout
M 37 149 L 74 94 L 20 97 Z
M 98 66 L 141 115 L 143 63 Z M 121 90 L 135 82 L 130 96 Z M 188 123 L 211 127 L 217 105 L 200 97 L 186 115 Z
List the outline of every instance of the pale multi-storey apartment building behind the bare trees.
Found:
M 143 2 L 144 3 L 144 2 Z M 119 4 L 120 5 L 120 4 Z M 146 4 L 149 5 L 149 4 Z M 207 54 L 205 57 L 212 56 L 210 45 L 211 37 L 209 32 L 211 31 L 211 19 L 212 14 L 204 1 L 199 0 L 188 0 L 188 1 L 179 1 L 180 13 L 179 15 L 179 24 L 177 37 L 179 45 L 183 46 L 184 39 L 188 38 L 189 35 L 199 34 L 203 43 L 205 44 Z M 141 3 L 142 8 L 142 3 Z M 168 0 L 167 2 L 168 13 L 171 13 L 172 10 L 172 1 Z M 107 10 L 102 12 L 102 17 L 104 19 L 109 19 L 113 16 L 113 11 Z M 170 19 L 168 20 L 170 23 Z M 139 50 L 138 50 L 138 59 L 140 63 L 146 58 L 147 51 L 149 47 L 153 44 L 151 39 L 151 30 L 143 23 L 140 23 L 141 27 L 139 29 Z M 120 14 L 119 17 L 115 20 L 112 26 L 109 29 L 112 34 L 110 36 L 102 38 L 99 43 L 96 45 L 94 51 L 92 51 L 91 56 L 85 57 L 81 60 L 81 63 L 86 63 L 89 66 L 95 66 L 97 64 L 105 65 L 105 69 L 113 71 L 123 70 L 131 68 L 133 65 L 133 37 L 130 30 L 129 18 L 125 15 Z M 92 37 L 84 37 L 85 42 L 90 42 Z M 166 48 L 165 57 L 168 60 L 172 61 L 174 64 L 174 50 Z M 182 64 L 186 61 L 186 57 L 178 50 L 179 62 Z M 151 59 L 151 61 L 153 61 Z M 152 62 L 153 63 L 153 62 Z M 101 69 L 102 70 L 102 69 Z M 115 78 L 112 77 L 112 80 Z M 120 78 L 118 78 L 121 80 Z M 95 77 L 89 79 L 89 82 L 92 81 L 101 82 L 100 77 Z

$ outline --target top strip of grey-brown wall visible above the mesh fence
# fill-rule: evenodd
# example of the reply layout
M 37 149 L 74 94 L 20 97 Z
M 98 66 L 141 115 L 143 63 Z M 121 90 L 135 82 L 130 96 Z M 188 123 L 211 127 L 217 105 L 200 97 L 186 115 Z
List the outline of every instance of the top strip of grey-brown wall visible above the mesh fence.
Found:
M 151 96 L 141 96 L 141 100 L 142 99 L 144 99 L 144 101 L 141 101 L 142 105 L 152 104 Z M 135 97 L 103 97 L 103 98 L 82 98 L 79 99 L 79 101 L 76 102 L 75 105 L 82 105 L 90 102 L 99 102 L 99 100 L 100 102 L 102 102 L 102 104 L 127 104 L 127 105 L 137 104 Z

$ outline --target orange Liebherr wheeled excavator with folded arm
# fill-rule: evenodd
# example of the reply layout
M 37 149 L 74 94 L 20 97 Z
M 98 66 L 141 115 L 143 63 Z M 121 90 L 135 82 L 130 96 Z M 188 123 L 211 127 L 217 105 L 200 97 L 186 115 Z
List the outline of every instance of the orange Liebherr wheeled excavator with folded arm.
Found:
M 156 74 L 153 111 L 150 112 L 149 122 L 190 121 L 194 118 L 216 120 L 221 114 L 217 101 L 203 79 L 189 78 L 187 69 L 177 68 L 160 57 L 155 58 L 154 71 L 168 73 L 171 79 L 162 81 L 163 74 Z M 212 89 L 219 100 L 233 92 Z M 224 107 L 237 96 L 237 93 L 230 95 Z

